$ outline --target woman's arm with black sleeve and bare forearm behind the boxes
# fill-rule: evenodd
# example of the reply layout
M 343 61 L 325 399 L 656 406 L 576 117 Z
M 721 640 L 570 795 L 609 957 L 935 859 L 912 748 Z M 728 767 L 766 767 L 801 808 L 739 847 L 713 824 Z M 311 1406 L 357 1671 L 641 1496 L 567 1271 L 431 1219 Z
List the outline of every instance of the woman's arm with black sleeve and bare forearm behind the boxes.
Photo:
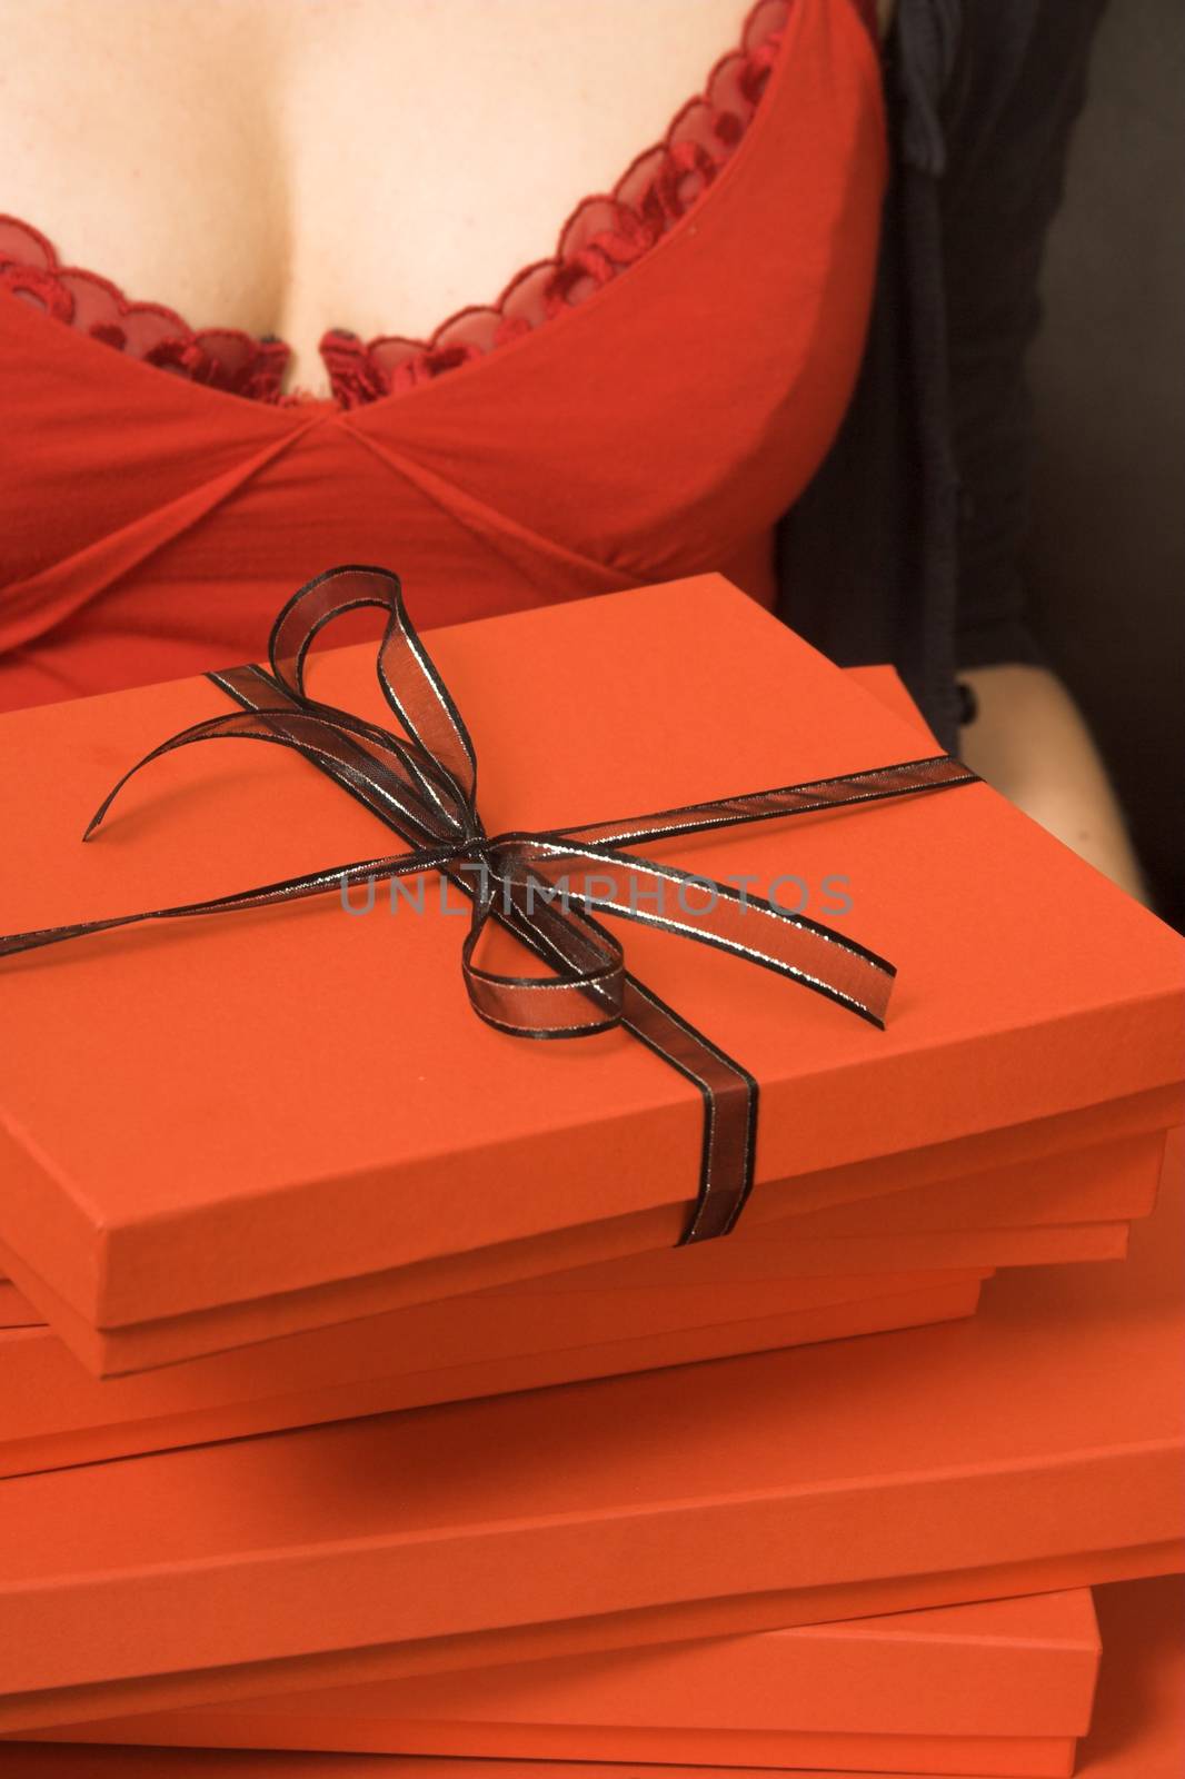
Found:
M 1021 553 L 1032 413 L 1025 356 L 1101 0 L 963 0 L 941 187 L 959 521 L 959 667 L 979 715 L 963 758 L 1148 898 L 1116 793 L 1028 619 Z M 1116 614 L 1119 623 L 1119 614 Z

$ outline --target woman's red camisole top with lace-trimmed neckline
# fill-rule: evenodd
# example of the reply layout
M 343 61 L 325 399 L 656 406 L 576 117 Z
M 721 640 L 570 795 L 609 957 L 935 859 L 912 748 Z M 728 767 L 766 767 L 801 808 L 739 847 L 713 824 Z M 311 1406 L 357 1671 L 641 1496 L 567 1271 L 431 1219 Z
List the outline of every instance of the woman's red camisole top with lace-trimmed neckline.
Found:
M 756 0 L 552 258 L 427 342 L 329 331 L 324 400 L 281 393 L 283 342 L 0 217 L 0 710 L 258 660 L 336 562 L 393 568 L 423 628 L 708 569 L 772 603 L 886 162 L 870 7 Z

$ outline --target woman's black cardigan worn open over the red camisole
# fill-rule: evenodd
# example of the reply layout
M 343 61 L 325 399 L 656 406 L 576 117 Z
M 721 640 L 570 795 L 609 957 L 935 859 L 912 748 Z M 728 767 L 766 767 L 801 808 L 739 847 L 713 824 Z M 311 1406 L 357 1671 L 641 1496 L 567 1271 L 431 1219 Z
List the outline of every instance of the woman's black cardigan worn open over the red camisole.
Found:
M 893 662 L 943 747 L 957 671 L 1041 662 L 1018 568 L 1023 359 L 1105 0 L 897 0 L 893 174 L 852 404 L 776 535 L 779 614 Z

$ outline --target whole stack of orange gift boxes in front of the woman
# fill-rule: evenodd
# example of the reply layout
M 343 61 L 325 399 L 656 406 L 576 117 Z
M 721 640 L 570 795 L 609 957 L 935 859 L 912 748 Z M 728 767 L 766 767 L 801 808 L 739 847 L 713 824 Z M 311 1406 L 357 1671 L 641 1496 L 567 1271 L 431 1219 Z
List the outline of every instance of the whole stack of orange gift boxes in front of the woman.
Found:
M 0 1774 L 1174 1772 L 1180 939 L 717 575 L 429 642 L 0 722 Z

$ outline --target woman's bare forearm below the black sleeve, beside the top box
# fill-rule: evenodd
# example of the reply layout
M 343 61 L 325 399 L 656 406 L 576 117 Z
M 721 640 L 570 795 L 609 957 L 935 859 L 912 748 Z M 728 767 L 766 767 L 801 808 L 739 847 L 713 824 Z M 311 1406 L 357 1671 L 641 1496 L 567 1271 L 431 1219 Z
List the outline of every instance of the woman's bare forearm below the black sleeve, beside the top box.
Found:
M 1148 902 L 1148 888 L 1128 840 L 1091 731 L 1062 681 L 1044 667 L 1004 664 L 963 674 L 979 715 L 961 733 L 961 754 L 1121 890 Z M 1014 886 L 1023 893 L 1023 886 Z

